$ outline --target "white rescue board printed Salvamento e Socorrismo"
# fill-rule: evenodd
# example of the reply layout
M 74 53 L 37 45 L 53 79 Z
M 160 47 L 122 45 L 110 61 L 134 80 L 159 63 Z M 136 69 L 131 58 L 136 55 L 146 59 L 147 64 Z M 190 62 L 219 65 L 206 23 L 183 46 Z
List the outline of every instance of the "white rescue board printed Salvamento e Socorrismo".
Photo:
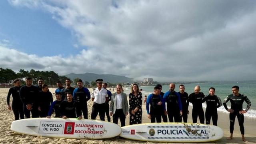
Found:
M 121 133 L 117 124 L 76 118 L 28 118 L 12 122 L 11 130 L 32 136 L 51 138 L 112 138 Z

